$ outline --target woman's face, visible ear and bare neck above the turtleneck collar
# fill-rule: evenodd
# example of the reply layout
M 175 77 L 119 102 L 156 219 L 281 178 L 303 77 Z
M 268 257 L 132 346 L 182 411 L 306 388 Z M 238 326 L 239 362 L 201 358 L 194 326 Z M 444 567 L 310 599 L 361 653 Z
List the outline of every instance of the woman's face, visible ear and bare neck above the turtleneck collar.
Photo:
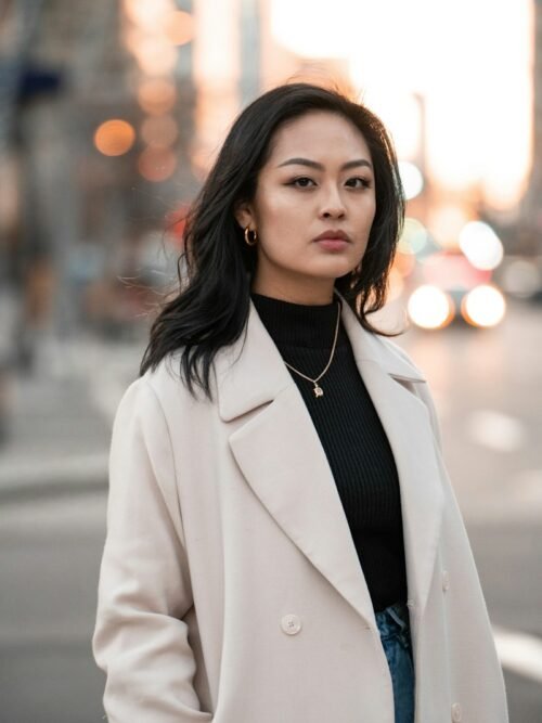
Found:
M 236 211 L 257 231 L 253 289 L 298 304 L 326 304 L 335 280 L 363 258 L 375 215 L 367 144 L 343 116 L 310 112 L 283 126 L 254 199 Z

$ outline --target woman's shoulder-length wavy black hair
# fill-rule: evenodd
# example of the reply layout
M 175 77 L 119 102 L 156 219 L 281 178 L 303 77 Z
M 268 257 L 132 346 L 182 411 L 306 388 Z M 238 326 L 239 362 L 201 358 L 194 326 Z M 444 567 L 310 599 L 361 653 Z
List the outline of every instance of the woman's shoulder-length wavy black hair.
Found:
M 350 120 L 371 152 L 376 212 L 360 268 L 340 276 L 336 289 L 360 324 L 374 333 L 367 314 L 386 300 L 387 281 L 404 219 L 404 196 L 392 142 L 382 121 L 335 90 L 298 82 L 274 88 L 248 105 L 233 124 L 186 218 L 184 254 L 178 262 L 180 291 L 151 327 L 140 373 L 182 348 L 180 373 L 210 397 L 209 375 L 218 350 L 246 327 L 256 250 L 244 243 L 234 209 L 251 201 L 271 141 L 286 121 L 311 111 Z M 184 270 L 181 271 L 181 266 Z

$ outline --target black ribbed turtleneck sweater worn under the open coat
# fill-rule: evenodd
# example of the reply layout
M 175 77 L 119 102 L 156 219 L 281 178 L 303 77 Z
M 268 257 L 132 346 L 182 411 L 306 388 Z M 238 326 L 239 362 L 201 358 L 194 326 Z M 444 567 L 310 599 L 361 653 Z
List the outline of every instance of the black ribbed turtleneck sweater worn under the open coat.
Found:
M 333 346 L 337 304 L 304 306 L 253 294 L 284 361 L 317 377 Z M 401 500 L 388 439 L 339 327 L 333 362 L 313 384 L 288 370 L 327 456 L 376 611 L 406 601 Z

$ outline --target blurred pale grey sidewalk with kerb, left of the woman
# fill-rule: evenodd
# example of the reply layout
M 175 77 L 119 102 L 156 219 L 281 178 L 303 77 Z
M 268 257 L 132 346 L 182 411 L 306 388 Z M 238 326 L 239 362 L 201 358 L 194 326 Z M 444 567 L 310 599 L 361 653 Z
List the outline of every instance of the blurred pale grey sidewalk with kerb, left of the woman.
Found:
M 33 374 L 12 376 L 0 501 L 106 487 L 113 417 L 141 354 L 140 343 L 78 338 L 40 349 Z

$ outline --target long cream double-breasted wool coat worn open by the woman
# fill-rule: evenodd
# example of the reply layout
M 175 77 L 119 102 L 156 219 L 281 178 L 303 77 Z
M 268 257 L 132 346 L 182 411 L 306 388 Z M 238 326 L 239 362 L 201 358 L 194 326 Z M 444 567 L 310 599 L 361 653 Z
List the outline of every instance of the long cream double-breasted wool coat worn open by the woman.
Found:
M 343 306 L 399 473 L 416 723 L 505 723 L 427 384 Z M 254 306 L 245 343 L 216 359 L 212 402 L 169 362 L 129 387 L 113 430 L 93 637 L 109 723 L 393 723 L 325 453 Z

